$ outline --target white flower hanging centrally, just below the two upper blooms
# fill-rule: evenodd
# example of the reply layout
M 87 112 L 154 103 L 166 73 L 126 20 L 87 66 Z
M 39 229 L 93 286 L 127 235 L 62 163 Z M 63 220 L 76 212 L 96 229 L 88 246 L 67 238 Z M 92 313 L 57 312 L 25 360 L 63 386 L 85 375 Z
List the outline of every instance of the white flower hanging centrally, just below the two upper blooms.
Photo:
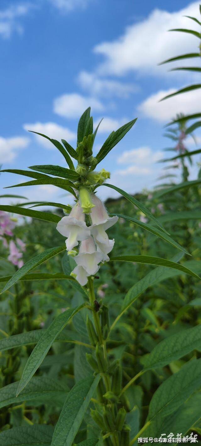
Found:
M 89 276 L 96 274 L 99 270 L 98 263 L 103 260 L 103 253 L 96 251 L 95 243 L 90 237 L 80 245 L 80 252 L 74 257 L 77 265 L 82 266 Z

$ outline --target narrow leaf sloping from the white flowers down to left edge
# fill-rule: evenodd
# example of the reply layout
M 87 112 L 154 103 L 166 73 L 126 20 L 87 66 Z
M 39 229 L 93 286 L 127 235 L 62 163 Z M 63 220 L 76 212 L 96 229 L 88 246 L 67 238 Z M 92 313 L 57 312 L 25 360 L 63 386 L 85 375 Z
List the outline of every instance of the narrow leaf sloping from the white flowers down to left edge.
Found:
M 29 273 L 29 271 L 41 265 L 42 263 L 46 262 L 46 260 L 49 260 L 52 257 L 57 256 L 57 254 L 60 254 L 60 252 L 63 252 L 65 250 L 66 250 L 66 245 L 64 244 L 62 246 L 57 246 L 56 248 L 46 249 L 46 251 L 43 251 L 37 256 L 33 257 L 31 260 L 28 260 L 28 262 L 26 262 L 20 269 L 18 269 L 14 274 L 14 276 L 11 277 L 8 283 L 4 286 L 4 289 L 1 291 L 1 293 L 7 291 L 7 289 L 13 286 L 22 277 L 24 277 L 25 274 Z

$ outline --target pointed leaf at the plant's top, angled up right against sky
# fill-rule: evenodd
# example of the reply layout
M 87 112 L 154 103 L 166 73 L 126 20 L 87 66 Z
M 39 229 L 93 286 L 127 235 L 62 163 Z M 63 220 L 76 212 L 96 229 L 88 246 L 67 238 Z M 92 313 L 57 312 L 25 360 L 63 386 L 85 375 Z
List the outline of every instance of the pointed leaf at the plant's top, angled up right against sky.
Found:
M 96 155 L 96 159 L 100 163 L 103 158 L 110 152 L 111 149 L 126 135 L 126 133 L 133 127 L 134 123 L 137 121 L 137 118 L 128 122 L 127 124 L 122 125 L 122 127 L 118 128 L 116 132 L 110 133 L 109 137 L 106 139 L 104 145 L 101 147 L 100 151 Z

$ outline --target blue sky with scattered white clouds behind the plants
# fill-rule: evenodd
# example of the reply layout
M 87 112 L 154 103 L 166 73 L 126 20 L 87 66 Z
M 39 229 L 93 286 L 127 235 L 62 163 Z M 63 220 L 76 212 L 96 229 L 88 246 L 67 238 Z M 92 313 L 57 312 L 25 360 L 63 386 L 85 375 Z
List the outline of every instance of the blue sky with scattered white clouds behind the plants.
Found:
M 99 165 L 111 172 L 111 184 L 130 193 L 155 186 L 163 167 L 157 161 L 170 145 L 163 136 L 164 125 L 176 113 L 200 111 L 201 90 L 159 103 L 169 92 L 200 83 L 197 74 L 170 72 L 175 65 L 158 65 L 169 57 L 197 51 L 196 37 L 167 32 L 190 27 L 200 31 L 187 15 L 199 18 L 199 2 L 1 0 L 2 169 L 65 166 L 54 145 L 28 130 L 66 139 L 76 147 L 79 118 L 91 106 L 95 125 L 104 117 L 95 153 L 110 132 L 138 117 Z M 188 149 L 195 149 L 193 144 L 188 138 Z M 196 178 L 196 172 L 194 165 L 191 178 Z M 70 197 L 60 198 L 64 191 L 51 185 L 3 189 L 25 181 L 26 177 L 1 173 L 0 194 L 71 202 Z M 118 196 L 105 187 L 99 195 L 104 199 Z M 7 204 L 8 199 L 1 202 Z

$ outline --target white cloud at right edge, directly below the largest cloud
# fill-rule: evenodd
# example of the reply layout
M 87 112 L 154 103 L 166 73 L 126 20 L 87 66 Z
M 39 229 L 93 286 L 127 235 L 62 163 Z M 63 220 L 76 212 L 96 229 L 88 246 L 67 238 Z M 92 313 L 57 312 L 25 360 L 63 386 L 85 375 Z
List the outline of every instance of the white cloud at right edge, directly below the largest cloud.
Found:
M 165 99 L 159 102 L 166 95 L 170 95 L 176 89 L 167 91 L 158 91 L 154 95 L 149 96 L 139 106 L 138 110 L 144 116 L 155 119 L 159 122 L 172 120 L 177 113 L 184 113 L 190 115 L 200 112 L 201 104 L 201 89 L 195 91 L 188 91 L 180 95 L 173 96 L 170 99 Z

